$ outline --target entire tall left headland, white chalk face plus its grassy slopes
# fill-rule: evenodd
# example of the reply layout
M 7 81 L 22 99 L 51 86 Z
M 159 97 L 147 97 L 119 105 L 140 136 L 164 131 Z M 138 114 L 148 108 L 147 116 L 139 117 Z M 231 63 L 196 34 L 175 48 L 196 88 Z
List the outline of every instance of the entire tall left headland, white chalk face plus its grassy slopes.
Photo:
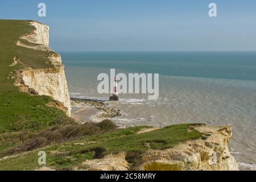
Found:
M 48 26 L 0 19 L 0 85 L 0 152 L 13 145 L 3 135 L 73 122 L 64 66 L 49 48 Z

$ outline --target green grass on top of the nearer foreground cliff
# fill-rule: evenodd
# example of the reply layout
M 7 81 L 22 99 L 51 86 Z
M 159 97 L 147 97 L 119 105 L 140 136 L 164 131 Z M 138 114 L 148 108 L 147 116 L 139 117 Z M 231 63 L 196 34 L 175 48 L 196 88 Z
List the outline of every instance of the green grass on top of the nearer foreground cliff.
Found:
M 130 163 L 139 158 L 149 148 L 164 150 L 179 142 L 201 138 L 201 133 L 191 128 L 191 124 L 172 125 L 163 129 L 137 134 L 144 126 L 120 129 L 105 134 L 92 135 L 72 142 L 55 144 L 40 149 L 46 151 L 46 166 L 55 169 L 81 167 L 86 159 L 102 158 L 106 154 L 125 151 Z M 188 131 L 190 129 L 190 131 Z M 2 160 L 0 170 L 33 170 L 40 168 L 38 151 Z M 56 151 L 56 152 L 53 152 Z

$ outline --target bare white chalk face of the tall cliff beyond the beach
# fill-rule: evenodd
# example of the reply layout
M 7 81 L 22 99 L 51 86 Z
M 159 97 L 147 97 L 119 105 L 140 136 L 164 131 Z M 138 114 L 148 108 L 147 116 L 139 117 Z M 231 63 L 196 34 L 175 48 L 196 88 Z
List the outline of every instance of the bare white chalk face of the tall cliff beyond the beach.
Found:
M 69 98 L 67 81 L 65 78 L 64 65 L 61 64 L 61 57 L 53 52 L 49 46 L 49 27 L 38 22 L 29 22 L 35 27 L 34 32 L 23 35 L 20 39 L 30 43 L 39 44 L 36 46 L 26 45 L 18 41 L 17 46 L 39 49 L 49 52 L 47 60 L 53 65 L 52 68 L 26 68 L 19 71 L 18 79 L 15 82 L 23 92 L 31 92 L 39 95 L 51 96 L 54 100 L 61 102 L 68 115 L 71 115 L 71 100 Z

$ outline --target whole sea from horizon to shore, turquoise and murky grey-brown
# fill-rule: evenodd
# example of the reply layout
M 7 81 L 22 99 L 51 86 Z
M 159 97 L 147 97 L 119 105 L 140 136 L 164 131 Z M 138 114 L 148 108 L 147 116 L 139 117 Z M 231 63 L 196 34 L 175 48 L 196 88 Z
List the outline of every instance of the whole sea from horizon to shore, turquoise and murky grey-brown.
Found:
M 119 94 L 126 126 L 231 124 L 230 153 L 242 170 L 256 170 L 256 52 L 60 52 L 75 98 L 108 100 L 100 73 L 159 73 L 159 97 Z M 112 80 L 109 80 L 112 81 Z

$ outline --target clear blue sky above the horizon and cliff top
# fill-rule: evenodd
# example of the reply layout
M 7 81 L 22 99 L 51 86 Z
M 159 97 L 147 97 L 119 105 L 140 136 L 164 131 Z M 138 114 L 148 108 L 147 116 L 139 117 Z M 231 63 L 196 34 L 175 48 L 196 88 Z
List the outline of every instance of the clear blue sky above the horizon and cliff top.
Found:
M 48 24 L 56 51 L 256 51 L 255 0 L 10 0 L 0 19 Z

